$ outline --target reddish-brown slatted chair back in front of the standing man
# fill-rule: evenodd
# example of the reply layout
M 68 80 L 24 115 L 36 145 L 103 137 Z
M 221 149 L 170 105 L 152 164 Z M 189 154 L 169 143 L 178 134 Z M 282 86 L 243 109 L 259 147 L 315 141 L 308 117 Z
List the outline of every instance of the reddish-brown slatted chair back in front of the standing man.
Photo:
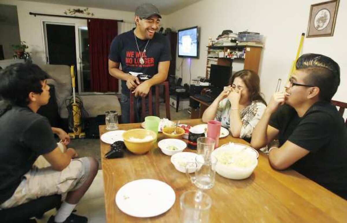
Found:
M 169 82 L 167 81 L 164 81 L 154 86 L 155 87 L 155 115 L 159 117 L 159 86 L 164 86 L 166 118 L 171 119 Z M 153 115 L 152 88 L 148 92 L 148 112 L 149 112 L 149 115 Z M 146 116 L 146 101 L 145 101 L 145 98 L 143 97 L 142 98 L 142 114 L 141 114 L 142 121 L 144 120 L 145 116 Z M 134 94 L 130 93 L 130 123 L 134 123 L 134 122 L 135 122 Z

